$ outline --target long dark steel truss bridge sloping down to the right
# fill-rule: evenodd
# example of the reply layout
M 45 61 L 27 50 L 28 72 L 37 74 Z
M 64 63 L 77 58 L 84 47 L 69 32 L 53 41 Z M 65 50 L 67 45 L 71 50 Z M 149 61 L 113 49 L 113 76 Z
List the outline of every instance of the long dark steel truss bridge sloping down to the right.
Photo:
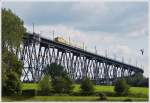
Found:
M 17 55 L 24 65 L 24 82 L 39 81 L 44 75 L 44 68 L 51 63 L 62 65 L 73 80 L 88 77 L 97 83 L 106 84 L 117 78 L 144 72 L 139 67 L 49 40 L 35 33 L 27 33 L 23 40 Z

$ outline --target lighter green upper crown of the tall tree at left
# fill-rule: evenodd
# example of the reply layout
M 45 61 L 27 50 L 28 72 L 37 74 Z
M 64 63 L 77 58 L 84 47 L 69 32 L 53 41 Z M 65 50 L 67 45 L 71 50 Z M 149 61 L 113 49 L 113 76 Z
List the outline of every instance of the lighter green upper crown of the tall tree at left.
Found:
M 18 47 L 25 35 L 23 21 L 10 9 L 2 9 L 2 47 Z

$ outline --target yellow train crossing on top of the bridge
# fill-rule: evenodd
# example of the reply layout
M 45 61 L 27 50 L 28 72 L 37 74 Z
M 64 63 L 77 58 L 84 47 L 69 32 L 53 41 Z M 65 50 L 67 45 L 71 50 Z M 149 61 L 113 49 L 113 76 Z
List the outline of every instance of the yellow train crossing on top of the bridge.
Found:
M 75 42 L 75 41 L 70 41 L 70 40 L 67 41 L 63 37 L 56 37 L 56 38 L 54 38 L 54 41 L 58 42 L 58 43 L 65 44 L 65 45 L 70 45 L 70 46 L 73 46 L 73 47 L 84 49 L 84 45 L 81 45 L 81 43 Z

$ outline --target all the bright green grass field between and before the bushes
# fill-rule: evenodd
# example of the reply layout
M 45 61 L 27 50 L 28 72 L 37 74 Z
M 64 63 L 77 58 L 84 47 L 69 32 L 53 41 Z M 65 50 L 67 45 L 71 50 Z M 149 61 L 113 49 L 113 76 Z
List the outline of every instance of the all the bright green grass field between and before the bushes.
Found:
M 24 83 L 22 85 L 23 90 L 36 89 L 38 90 L 38 85 L 35 83 Z M 113 93 L 113 86 L 95 86 L 95 92 Z M 74 85 L 73 92 L 80 92 L 80 85 Z M 132 99 L 133 101 L 148 101 L 148 88 L 146 87 L 131 87 L 130 95 L 127 97 L 115 97 L 108 96 L 108 101 L 124 101 L 125 99 Z M 55 96 L 11 96 L 2 97 L 2 101 L 99 101 L 98 96 L 68 96 L 68 95 L 55 95 Z

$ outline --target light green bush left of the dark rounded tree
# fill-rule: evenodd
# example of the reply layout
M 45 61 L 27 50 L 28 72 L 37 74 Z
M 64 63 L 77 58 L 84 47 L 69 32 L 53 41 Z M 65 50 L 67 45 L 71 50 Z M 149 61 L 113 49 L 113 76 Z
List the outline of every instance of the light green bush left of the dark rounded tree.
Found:
M 45 75 L 38 84 L 41 95 L 50 95 L 52 92 L 52 84 L 50 77 Z

